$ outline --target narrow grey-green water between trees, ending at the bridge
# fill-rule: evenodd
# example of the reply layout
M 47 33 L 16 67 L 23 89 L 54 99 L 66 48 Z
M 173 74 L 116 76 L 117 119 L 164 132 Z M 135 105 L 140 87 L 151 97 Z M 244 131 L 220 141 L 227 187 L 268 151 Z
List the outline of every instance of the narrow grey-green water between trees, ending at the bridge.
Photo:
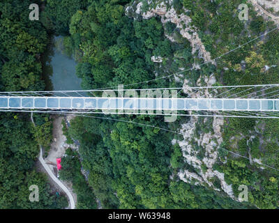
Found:
M 54 36 L 42 57 L 45 91 L 82 90 L 82 79 L 75 75 L 77 63 L 62 53 L 62 38 Z

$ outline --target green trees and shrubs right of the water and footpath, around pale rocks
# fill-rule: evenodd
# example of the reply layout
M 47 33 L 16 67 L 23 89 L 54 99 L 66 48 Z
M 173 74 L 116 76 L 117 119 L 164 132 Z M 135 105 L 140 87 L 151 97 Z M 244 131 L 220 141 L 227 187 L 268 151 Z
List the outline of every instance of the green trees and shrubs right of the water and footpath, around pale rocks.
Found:
M 215 58 L 246 43 L 264 29 L 273 27 L 272 24 L 263 22 L 255 13 L 251 13 L 252 22 L 247 24 L 248 29 L 244 29 L 245 24 L 238 20 L 234 10 L 240 3 L 241 1 L 221 3 L 205 0 L 193 3 L 184 0 L 175 1 L 174 8 L 176 13 L 183 13 L 182 5 L 190 9 L 187 15 L 199 30 L 199 37 L 206 50 Z M 194 61 L 190 43 L 174 28 L 171 22 L 162 24 L 158 17 L 142 20 L 130 12 L 127 17 L 123 12 L 122 1 L 94 1 L 86 10 L 77 10 L 70 22 L 70 37 L 67 37 L 70 40 L 67 40 L 67 47 L 73 55 L 77 52 L 83 53 L 77 66 L 77 75 L 82 77 L 82 86 L 85 89 L 98 89 L 117 84 L 145 82 L 177 72 L 180 67 L 188 68 L 193 63 L 203 63 L 204 61 L 198 57 L 195 57 Z M 172 35 L 176 41 L 172 43 L 165 38 L 165 32 Z M 251 36 L 248 38 L 249 32 Z M 183 78 L 195 85 L 199 77 L 203 79 L 214 73 L 218 84 L 260 84 L 264 81 L 270 83 L 278 75 L 274 73 L 278 66 L 269 70 L 267 76 L 262 75 L 262 68 L 265 64 L 271 64 L 266 56 L 271 57 L 272 63 L 278 63 L 270 54 L 271 45 L 277 44 L 273 35 L 266 38 L 264 43 L 246 45 L 243 49 L 224 56 L 218 61 L 217 67 L 207 64 L 200 70 L 186 73 Z M 266 50 L 267 48 L 269 49 Z M 163 62 L 153 63 L 151 56 L 161 56 Z M 246 63 L 245 70 L 240 69 L 241 61 Z M 229 69 L 223 70 L 224 67 Z M 144 89 L 176 84 L 174 79 L 169 78 L 142 83 L 138 87 Z M 136 88 L 137 84 L 133 87 Z M 123 116 L 120 119 L 168 129 L 175 128 L 164 123 L 160 117 Z M 230 121 L 229 127 L 225 129 L 225 141 L 232 137 L 234 131 L 249 132 L 255 123 L 239 119 L 235 123 L 238 127 L 233 125 L 234 122 Z M 198 128 L 202 132 L 211 132 L 212 119 L 209 118 L 207 125 L 197 127 L 197 132 Z M 71 123 L 70 135 L 80 141 L 82 166 L 89 170 L 89 185 L 105 208 L 250 207 L 247 203 L 236 203 L 223 197 L 224 194 L 188 185 L 176 177 L 170 178 L 172 174 L 175 176 L 180 168 L 193 169 L 183 163 L 179 147 L 170 144 L 170 141 L 177 137 L 173 134 L 133 123 L 75 118 Z M 225 144 L 224 148 L 230 149 L 228 144 Z M 274 150 L 270 148 L 272 149 Z M 225 180 L 232 184 L 235 194 L 239 183 L 249 181 L 250 203 L 259 208 L 276 208 L 278 190 L 269 188 L 273 187 L 277 175 L 272 172 L 262 178 L 261 187 L 266 192 L 259 192 L 258 186 L 252 182 L 262 176 L 260 169 L 255 167 L 255 164 L 247 164 L 245 160 L 235 160 L 235 157 L 228 154 L 227 156 L 232 160 L 224 164 L 220 162 L 223 159 L 220 155 L 220 160 L 214 168 L 225 174 Z M 204 151 L 200 149 L 198 158 L 202 160 L 203 157 Z M 207 169 L 206 166 L 202 168 Z M 253 171 L 255 174 L 252 174 Z M 211 180 L 215 187 L 220 187 L 220 180 Z M 273 199 L 270 199 L 271 196 Z

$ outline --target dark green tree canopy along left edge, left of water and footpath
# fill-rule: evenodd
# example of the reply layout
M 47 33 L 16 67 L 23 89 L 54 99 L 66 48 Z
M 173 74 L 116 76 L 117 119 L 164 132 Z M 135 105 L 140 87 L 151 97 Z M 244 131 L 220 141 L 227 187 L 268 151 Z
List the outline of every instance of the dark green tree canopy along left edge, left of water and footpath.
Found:
M 40 54 L 47 31 L 29 20 L 29 5 L 38 1 L 0 2 L 0 91 L 42 91 Z M 45 174 L 35 171 L 38 143 L 50 144 L 50 120 L 30 114 L 0 114 L 0 208 L 65 208 L 66 197 L 50 193 Z M 39 121 L 39 119 L 43 119 Z M 37 141 L 38 139 L 38 141 Z M 38 185 L 39 201 L 29 201 L 29 186 Z

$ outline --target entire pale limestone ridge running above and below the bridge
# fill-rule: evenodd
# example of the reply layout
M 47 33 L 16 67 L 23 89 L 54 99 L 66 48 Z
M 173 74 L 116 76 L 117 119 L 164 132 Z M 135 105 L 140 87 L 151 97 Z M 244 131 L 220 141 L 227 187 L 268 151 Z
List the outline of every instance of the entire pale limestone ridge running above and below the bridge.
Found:
M 148 3 L 150 5 L 151 2 L 148 1 Z M 138 3 L 135 1 L 132 6 L 126 8 L 127 15 L 128 13 L 133 13 L 133 17 L 135 19 L 142 17 L 144 20 L 149 20 L 151 17 L 158 16 L 163 24 L 166 22 L 176 24 L 176 28 L 178 28 L 181 36 L 189 40 L 192 47 L 192 54 L 197 52 L 199 58 L 204 59 L 204 62 L 216 65 L 216 62 L 211 59 L 211 54 L 206 52 L 204 44 L 198 36 L 197 28 L 190 25 L 192 22 L 191 18 L 184 14 L 177 15 L 172 6 L 172 1 L 160 2 L 157 4 L 156 8 L 149 7 L 149 10 L 144 12 L 142 11 L 142 6 L 142 2 Z M 186 8 L 183 8 L 183 11 L 188 12 Z M 170 41 L 175 42 L 172 35 L 167 35 L 165 33 L 165 36 Z M 151 60 L 155 63 L 160 63 L 161 58 L 159 56 L 152 56 Z M 200 66 L 198 64 L 193 64 L 193 69 L 200 69 Z M 180 70 L 185 70 L 185 68 L 180 68 Z M 202 77 L 199 77 L 197 83 L 195 84 L 197 86 L 204 86 L 202 81 L 206 84 L 206 86 L 212 86 L 216 83 L 216 77 L 214 77 L 213 74 L 209 77 L 203 77 L 203 79 Z M 203 92 L 195 92 L 190 88 L 188 79 L 184 80 L 183 92 L 188 94 L 190 98 L 211 98 L 213 96 L 212 93 L 216 93 L 216 91 L 209 91 L 208 89 Z M 204 118 L 204 122 L 207 120 L 207 118 Z M 195 185 L 207 185 L 209 187 L 213 187 L 214 190 L 223 191 L 232 199 L 236 199 L 232 191 L 232 185 L 228 185 L 225 182 L 224 174 L 213 169 L 213 164 L 215 164 L 218 159 L 217 148 L 223 142 L 221 134 L 223 124 L 223 118 L 214 117 L 212 123 L 213 132 L 202 132 L 199 137 L 197 137 L 195 135 L 195 129 L 196 126 L 199 125 L 198 118 L 196 116 L 191 116 L 190 120 L 187 123 L 183 123 L 180 127 L 179 131 L 183 135 L 183 140 L 179 141 L 177 139 L 173 139 L 172 144 L 179 144 L 183 153 L 184 162 L 195 168 L 195 172 L 188 169 L 181 169 L 178 173 L 181 180 L 186 183 L 194 183 Z M 199 150 L 193 148 L 193 141 L 197 146 L 199 146 L 199 148 L 202 148 L 203 151 L 205 151 L 204 157 L 199 157 Z M 173 176 L 170 177 L 172 178 Z M 216 188 L 213 185 L 213 178 L 215 180 L 217 178 L 220 181 L 220 187 Z

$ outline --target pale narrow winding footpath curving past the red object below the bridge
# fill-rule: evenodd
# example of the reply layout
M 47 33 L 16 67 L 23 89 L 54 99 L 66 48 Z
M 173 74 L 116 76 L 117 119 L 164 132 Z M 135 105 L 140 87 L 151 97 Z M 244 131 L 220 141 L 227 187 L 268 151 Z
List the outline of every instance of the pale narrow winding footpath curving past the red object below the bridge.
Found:
M 32 121 L 33 125 L 36 126 L 34 121 L 33 121 L 33 112 L 31 113 L 31 121 Z M 75 201 L 74 201 L 73 195 L 70 193 L 70 190 L 68 190 L 68 188 L 65 185 L 63 185 L 63 183 L 59 180 L 59 178 L 56 178 L 56 176 L 54 176 L 50 167 L 48 167 L 48 165 L 45 163 L 45 160 L 43 159 L 43 148 L 42 148 L 42 146 L 40 146 L 39 161 L 43 165 L 45 171 L 47 171 L 47 174 L 52 178 L 52 180 L 54 180 L 54 182 L 57 185 L 59 185 L 59 187 L 63 190 L 63 192 L 65 192 L 67 194 L 68 199 L 70 201 L 70 209 L 75 209 Z

